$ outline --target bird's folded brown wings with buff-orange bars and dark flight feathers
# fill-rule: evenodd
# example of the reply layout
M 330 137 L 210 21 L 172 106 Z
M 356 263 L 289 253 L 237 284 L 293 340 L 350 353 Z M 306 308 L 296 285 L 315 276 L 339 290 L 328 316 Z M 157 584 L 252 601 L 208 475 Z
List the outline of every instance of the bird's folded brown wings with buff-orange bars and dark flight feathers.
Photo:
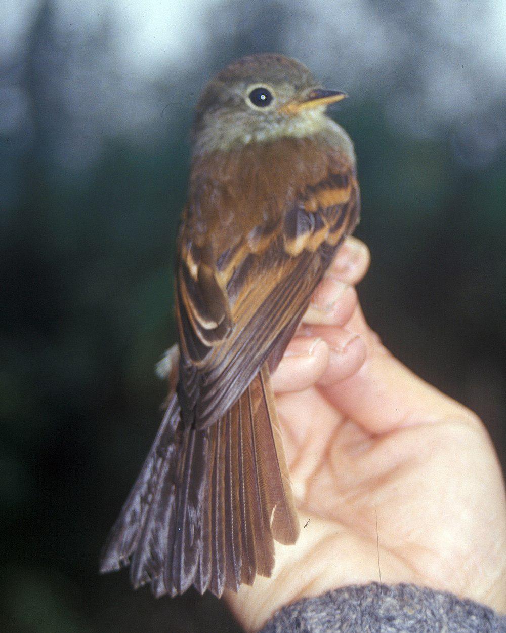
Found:
M 259 224 L 216 258 L 192 248 L 183 224 L 176 277 L 183 420 L 197 427 L 216 422 L 269 356 L 271 368 L 277 365 L 358 217 L 354 166 L 336 160 L 288 197 L 277 222 Z

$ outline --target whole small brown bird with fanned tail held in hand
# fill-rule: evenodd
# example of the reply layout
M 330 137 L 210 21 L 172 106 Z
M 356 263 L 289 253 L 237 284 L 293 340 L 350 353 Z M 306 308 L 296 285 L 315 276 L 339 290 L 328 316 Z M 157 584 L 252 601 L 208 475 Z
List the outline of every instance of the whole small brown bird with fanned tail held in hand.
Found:
M 359 218 L 342 92 L 278 54 L 204 90 L 178 236 L 175 392 L 104 548 L 156 596 L 269 576 L 299 535 L 270 373 Z

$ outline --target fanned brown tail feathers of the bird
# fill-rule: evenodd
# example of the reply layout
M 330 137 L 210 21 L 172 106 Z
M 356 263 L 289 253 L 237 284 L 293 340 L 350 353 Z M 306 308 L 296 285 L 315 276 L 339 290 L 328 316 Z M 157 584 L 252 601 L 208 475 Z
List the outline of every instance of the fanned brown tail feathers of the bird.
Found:
M 221 596 L 271 575 L 273 539 L 299 535 L 265 364 L 217 423 L 182 429 L 176 396 L 102 553 L 157 596 L 194 585 Z

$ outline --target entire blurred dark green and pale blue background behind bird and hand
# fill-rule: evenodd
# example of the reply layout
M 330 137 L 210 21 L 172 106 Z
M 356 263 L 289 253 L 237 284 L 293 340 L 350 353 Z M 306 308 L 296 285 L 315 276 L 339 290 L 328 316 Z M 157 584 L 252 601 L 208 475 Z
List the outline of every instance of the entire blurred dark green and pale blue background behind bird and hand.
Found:
M 4 3 L 0 43 L 0 629 L 238 630 L 155 600 L 99 551 L 160 420 L 188 130 L 207 79 L 280 51 L 351 98 L 359 293 L 505 463 L 506 3 Z M 450 473 L 449 473 L 449 476 Z

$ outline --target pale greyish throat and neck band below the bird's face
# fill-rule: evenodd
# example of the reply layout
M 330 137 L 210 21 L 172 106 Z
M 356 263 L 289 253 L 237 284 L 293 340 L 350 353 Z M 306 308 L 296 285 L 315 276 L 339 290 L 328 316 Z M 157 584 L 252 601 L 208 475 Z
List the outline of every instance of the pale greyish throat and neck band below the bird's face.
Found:
M 306 110 L 297 116 L 285 116 L 275 122 L 251 120 L 237 122 L 221 116 L 206 125 L 195 139 L 194 153 L 228 151 L 250 142 L 268 142 L 279 138 L 304 138 L 318 135 L 332 147 L 338 147 L 355 161 L 353 143 L 345 130 L 326 116 L 324 108 Z

